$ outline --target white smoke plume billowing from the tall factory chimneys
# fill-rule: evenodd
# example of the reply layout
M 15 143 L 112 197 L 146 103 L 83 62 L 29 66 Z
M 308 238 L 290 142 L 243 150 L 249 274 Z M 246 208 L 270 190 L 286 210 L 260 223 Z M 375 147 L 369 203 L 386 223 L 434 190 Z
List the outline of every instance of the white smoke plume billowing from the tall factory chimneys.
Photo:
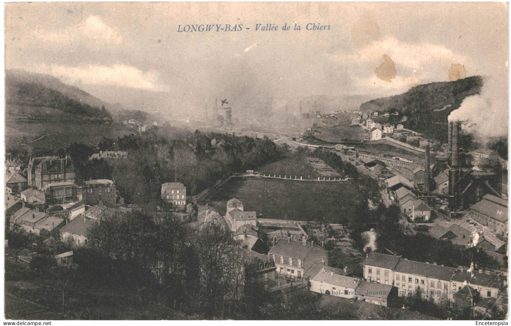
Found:
M 486 143 L 491 137 L 507 136 L 507 84 L 483 78 L 479 95 L 469 96 L 449 114 L 449 121 L 467 122 L 464 132 Z

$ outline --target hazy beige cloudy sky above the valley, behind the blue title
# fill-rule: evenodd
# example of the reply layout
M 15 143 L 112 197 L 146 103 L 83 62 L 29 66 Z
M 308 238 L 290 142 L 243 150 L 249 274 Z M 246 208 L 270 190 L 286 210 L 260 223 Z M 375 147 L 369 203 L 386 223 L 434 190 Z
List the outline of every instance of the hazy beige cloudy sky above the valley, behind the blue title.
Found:
M 215 97 L 250 106 L 389 96 L 474 75 L 502 86 L 507 103 L 505 3 L 39 2 L 7 3 L 5 16 L 6 68 L 121 104 L 193 111 Z M 307 31 L 309 23 L 330 29 Z M 178 32 L 194 24 L 243 29 Z

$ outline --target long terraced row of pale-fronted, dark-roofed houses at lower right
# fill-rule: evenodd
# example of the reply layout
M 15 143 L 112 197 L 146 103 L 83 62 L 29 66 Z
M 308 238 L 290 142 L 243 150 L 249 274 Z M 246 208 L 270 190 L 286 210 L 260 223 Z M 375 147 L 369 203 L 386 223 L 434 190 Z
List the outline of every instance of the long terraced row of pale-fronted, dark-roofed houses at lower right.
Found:
M 491 302 L 507 311 L 507 301 L 501 295 L 507 287 L 507 277 L 493 271 L 447 267 L 371 252 L 364 262 L 364 280 L 392 285 L 400 296 L 418 291 L 435 302 L 449 300 L 461 307 L 481 304 L 483 308 Z

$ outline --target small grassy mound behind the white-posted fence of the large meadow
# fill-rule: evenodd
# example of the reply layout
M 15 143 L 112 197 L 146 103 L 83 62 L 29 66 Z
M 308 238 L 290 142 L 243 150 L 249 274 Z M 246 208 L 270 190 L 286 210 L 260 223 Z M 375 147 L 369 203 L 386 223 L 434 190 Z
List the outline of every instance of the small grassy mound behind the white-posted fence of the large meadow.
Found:
M 312 165 L 302 154 L 293 154 L 290 157 L 268 164 L 257 170 L 261 173 L 282 175 L 301 175 L 304 179 L 317 178 L 319 174 L 314 171 Z

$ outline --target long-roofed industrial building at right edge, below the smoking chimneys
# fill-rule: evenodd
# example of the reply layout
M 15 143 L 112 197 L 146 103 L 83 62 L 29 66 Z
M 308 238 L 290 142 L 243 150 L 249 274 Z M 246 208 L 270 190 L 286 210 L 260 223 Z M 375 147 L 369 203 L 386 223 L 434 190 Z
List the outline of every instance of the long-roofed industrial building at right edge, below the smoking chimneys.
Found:
M 507 200 L 484 195 L 481 201 L 470 206 L 470 213 L 486 229 L 507 237 Z

